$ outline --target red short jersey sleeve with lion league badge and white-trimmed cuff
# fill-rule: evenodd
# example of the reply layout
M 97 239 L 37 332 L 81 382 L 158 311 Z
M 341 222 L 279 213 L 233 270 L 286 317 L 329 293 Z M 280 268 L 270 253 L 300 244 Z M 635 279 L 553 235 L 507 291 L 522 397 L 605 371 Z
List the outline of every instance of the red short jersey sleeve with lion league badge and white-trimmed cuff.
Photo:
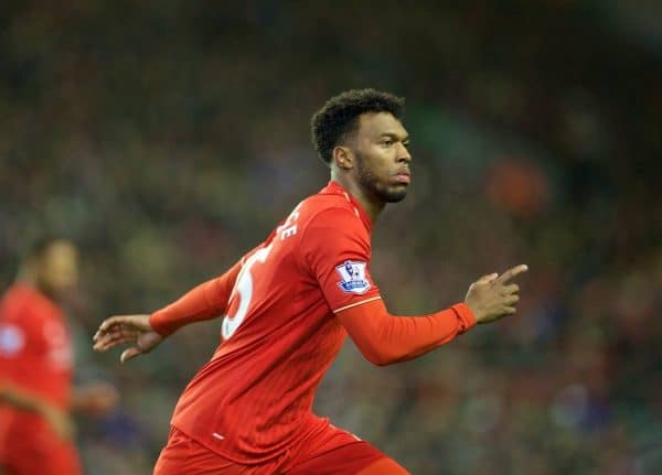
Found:
M 301 251 L 303 266 L 333 312 L 381 299 L 370 273 L 369 231 L 350 209 L 329 208 L 313 216 Z

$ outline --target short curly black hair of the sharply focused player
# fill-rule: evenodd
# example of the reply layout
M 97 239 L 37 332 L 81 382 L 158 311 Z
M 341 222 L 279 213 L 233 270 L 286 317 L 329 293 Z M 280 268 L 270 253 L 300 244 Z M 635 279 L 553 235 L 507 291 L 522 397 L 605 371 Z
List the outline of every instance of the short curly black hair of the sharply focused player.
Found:
M 375 89 L 350 89 L 333 96 L 310 120 L 318 155 L 330 164 L 333 149 L 354 132 L 362 114 L 391 112 L 402 120 L 404 106 L 404 98 Z

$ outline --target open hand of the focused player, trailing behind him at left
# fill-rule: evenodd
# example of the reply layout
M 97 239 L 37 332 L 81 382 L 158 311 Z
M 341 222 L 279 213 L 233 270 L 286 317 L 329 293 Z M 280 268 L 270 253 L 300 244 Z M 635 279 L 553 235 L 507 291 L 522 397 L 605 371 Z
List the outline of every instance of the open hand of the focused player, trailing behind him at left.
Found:
M 125 363 L 156 348 L 163 337 L 149 324 L 149 315 L 118 315 L 106 319 L 94 335 L 94 349 L 105 352 L 126 343 L 134 346 L 119 357 Z

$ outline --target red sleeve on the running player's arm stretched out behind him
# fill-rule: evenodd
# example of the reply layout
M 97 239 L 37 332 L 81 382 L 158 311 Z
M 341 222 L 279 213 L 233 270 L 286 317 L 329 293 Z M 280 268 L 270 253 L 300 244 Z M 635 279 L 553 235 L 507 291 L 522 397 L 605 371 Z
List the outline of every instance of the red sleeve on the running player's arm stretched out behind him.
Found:
M 224 313 L 242 262 L 243 259 L 223 276 L 201 283 L 177 302 L 152 313 L 149 317 L 152 328 L 167 336 L 189 323 L 214 319 Z

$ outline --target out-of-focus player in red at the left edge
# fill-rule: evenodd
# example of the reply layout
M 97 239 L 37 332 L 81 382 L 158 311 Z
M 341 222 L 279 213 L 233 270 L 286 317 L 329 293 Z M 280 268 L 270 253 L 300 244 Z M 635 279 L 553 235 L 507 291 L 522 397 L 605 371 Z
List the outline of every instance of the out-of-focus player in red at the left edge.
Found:
M 45 238 L 0 300 L 0 473 L 76 475 L 72 411 L 104 413 L 115 389 L 73 389 L 74 352 L 62 303 L 78 281 L 78 252 Z

